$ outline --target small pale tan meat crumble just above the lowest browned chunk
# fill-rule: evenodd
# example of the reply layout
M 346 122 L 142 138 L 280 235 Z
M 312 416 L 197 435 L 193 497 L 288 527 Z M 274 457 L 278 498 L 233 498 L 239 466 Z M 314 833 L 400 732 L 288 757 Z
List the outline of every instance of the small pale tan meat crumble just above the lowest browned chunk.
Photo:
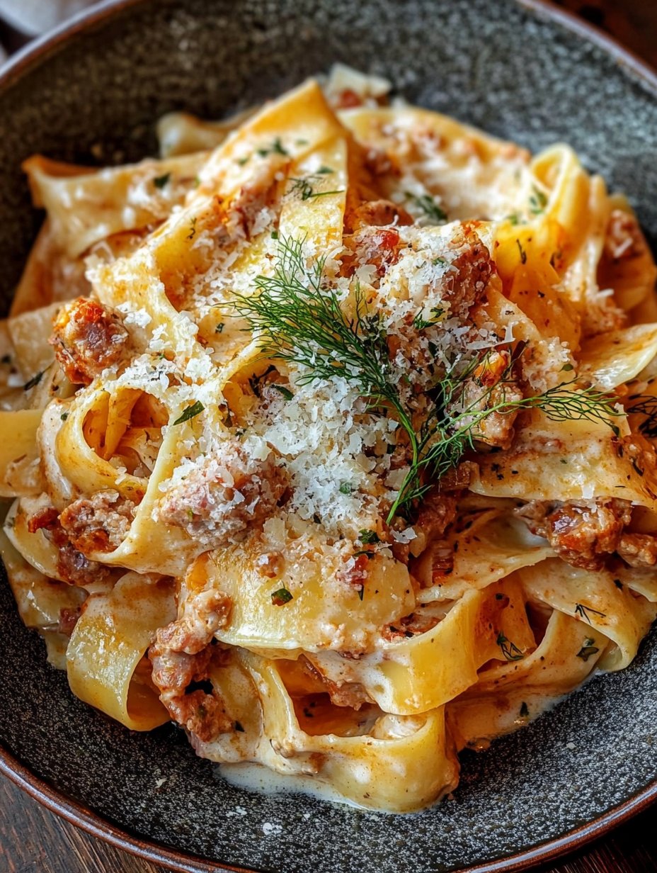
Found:
M 158 631 L 158 640 L 175 652 L 197 655 L 209 645 L 216 631 L 228 622 L 232 601 L 222 591 L 189 595 L 182 615 Z

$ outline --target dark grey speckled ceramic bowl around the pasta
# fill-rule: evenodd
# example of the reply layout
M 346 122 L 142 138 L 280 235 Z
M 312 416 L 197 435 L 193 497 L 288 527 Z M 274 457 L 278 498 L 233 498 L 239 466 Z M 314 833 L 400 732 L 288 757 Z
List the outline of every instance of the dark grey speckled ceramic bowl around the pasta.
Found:
M 657 239 L 657 79 L 563 14 L 516 0 L 124 0 L 0 79 L 5 299 L 39 221 L 25 157 L 94 162 L 100 144 L 107 162 L 140 158 L 161 113 L 217 117 L 335 60 L 530 148 L 571 142 Z M 178 870 L 520 870 L 657 795 L 655 633 L 630 669 L 488 753 L 465 753 L 453 801 L 390 816 L 224 784 L 173 727 L 129 733 L 73 698 L 4 580 L 0 615 L 0 769 L 92 833 Z

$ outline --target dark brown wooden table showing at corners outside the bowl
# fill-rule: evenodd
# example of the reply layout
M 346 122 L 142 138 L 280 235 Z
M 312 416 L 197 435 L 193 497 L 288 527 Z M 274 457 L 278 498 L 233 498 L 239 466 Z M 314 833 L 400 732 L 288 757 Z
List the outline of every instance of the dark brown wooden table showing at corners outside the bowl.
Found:
M 562 0 L 657 66 L 657 0 Z M 657 806 L 563 861 L 532 873 L 655 873 Z M 0 777 L 0 873 L 164 873 L 39 806 Z M 409 871 L 412 873 L 412 871 Z

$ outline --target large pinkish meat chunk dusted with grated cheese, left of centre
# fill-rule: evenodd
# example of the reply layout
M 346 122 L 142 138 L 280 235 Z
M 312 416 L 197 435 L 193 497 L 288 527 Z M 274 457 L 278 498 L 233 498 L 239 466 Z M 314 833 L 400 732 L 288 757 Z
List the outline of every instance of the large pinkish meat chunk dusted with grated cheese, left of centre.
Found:
M 187 531 L 205 548 L 239 540 L 261 525 L 287 487 L 273 453 L 263 461 L 249 457 L 236 440 L 205 457 L 187 478 L 161 500 L 157 518 Z

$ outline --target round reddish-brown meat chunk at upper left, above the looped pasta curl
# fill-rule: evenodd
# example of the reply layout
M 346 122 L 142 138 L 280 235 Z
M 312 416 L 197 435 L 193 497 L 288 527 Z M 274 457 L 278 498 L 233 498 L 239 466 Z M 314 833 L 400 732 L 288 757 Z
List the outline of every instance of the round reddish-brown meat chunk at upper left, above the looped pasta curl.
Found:
M 79 297 L 59 310 L 50 342 L 66 378 L 89 385 L 121 360 L 129 339 L 120 313 Z

